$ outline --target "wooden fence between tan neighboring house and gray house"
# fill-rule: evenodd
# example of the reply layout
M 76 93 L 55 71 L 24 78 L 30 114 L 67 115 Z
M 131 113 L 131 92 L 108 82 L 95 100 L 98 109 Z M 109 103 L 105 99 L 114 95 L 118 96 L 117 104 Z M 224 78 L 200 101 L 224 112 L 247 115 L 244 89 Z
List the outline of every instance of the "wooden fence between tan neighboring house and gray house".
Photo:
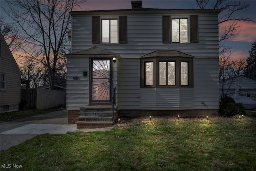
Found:
M 20 109 L 48 109 L 66 104 L 66 92 L 44 89 L 21 89 Z

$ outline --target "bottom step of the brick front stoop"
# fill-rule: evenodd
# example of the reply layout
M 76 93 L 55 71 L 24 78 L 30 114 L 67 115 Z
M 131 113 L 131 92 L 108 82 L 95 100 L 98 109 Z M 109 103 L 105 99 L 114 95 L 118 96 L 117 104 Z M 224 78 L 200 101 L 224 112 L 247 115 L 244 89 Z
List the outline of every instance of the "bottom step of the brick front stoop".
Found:
M 83 129 L 83 128 L 108 128 L 112 127 L 113 122 L 84 122 L 84 121 L 77 121 L 76 122 L 76 129 Z

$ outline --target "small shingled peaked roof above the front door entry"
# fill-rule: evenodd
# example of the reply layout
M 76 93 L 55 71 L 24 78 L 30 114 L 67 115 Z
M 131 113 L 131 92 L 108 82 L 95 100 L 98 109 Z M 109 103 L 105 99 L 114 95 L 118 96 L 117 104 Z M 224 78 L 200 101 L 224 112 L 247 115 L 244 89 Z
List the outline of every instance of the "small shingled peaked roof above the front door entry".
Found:
M 68 53 L 65 57 L 118 57 L 121 59 L 120 55 L 105 49 L 101 49 L 97 46 L 93 46 L 89 49 L 85 49 L 82 51 L 77 51 L 73 53 Z

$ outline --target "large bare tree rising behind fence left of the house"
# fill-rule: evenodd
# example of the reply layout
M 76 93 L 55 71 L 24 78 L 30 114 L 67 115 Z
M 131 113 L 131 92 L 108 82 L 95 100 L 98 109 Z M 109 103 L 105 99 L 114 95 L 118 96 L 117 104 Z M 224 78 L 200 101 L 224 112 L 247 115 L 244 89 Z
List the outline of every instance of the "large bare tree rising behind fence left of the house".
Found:
M 26 59 L 36 60 L 47 68 L 50 89 L 54 87 L 58 64 L 65 63 L 63 55 L 70 49 L 69 12 L 83 2 L 85 1 L 7 1 L 10 11 L 5 12 L 16 22 L 20 29 L 19 38 L 24 41 L 19 48 Z

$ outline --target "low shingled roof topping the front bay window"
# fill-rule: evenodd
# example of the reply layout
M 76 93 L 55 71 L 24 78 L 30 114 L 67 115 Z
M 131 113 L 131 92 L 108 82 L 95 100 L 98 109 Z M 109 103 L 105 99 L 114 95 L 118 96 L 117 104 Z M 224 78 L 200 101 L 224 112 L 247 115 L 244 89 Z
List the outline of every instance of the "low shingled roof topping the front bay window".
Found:
M 140 58 L 146 58 L 146 57 L 190 57 L 191 58 L 193 56 L 188 55 L 186 53 L 182 53 L 180 51 L 170 50 L 170 51 L 154 51 Z

